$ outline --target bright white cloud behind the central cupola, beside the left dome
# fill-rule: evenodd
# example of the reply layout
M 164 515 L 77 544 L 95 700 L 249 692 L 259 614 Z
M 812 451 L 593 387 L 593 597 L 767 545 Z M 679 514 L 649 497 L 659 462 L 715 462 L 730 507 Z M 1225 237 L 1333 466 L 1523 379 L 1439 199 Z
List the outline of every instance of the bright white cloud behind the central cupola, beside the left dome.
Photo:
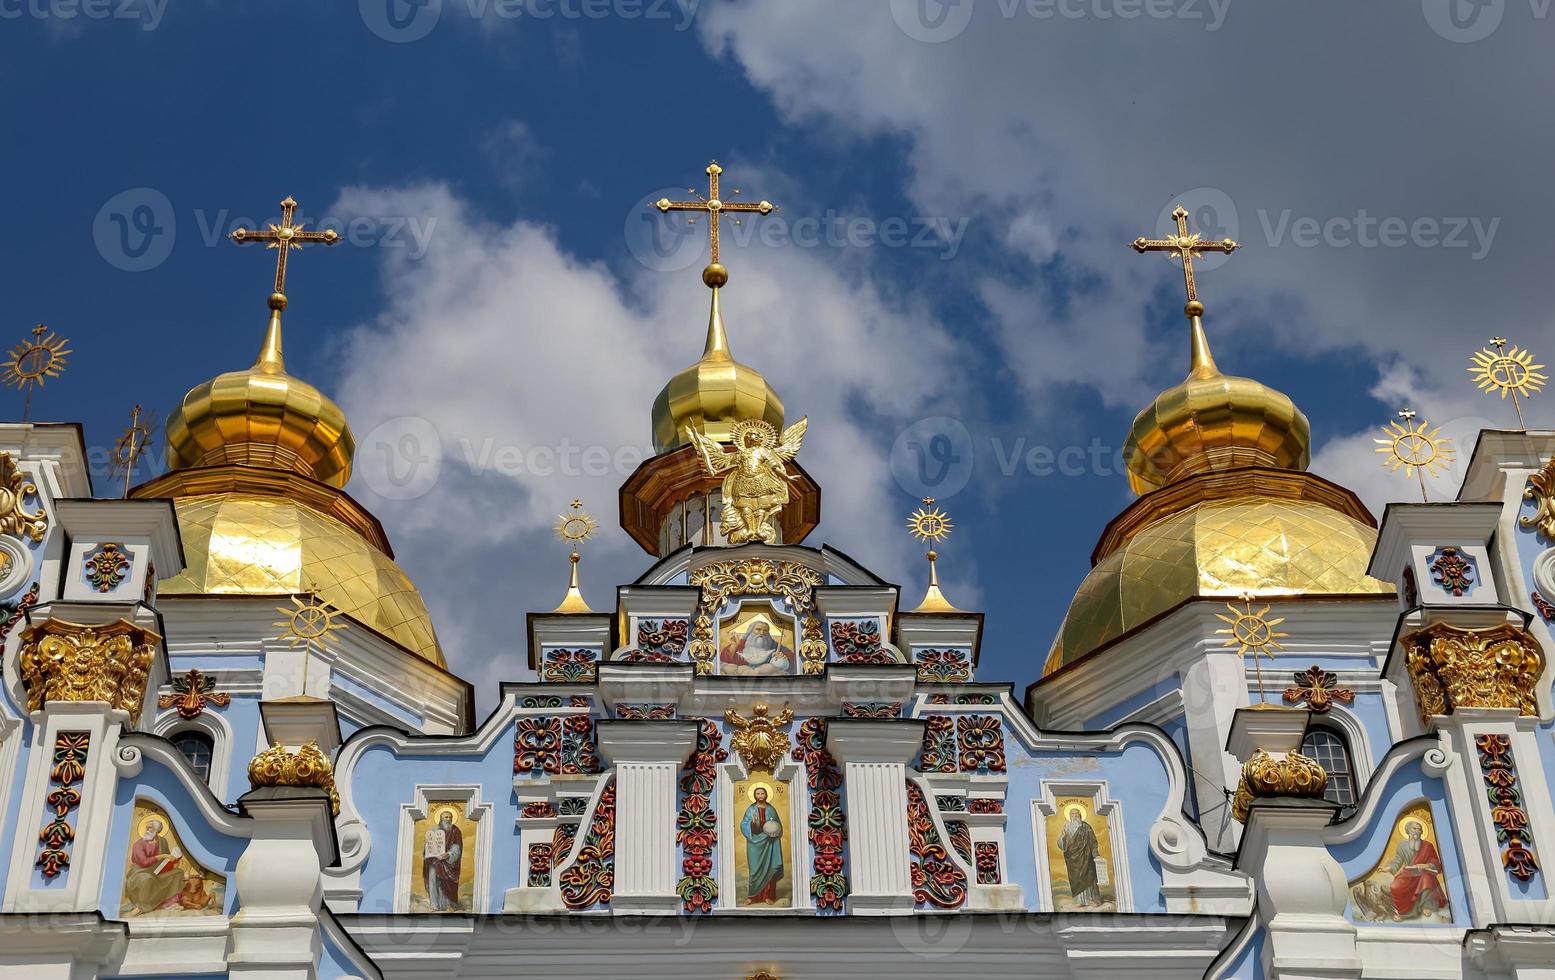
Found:
M 616 492 L 648 450 L 658 389 L 701 353 L 708 291 L 695 269 L 617 280 L 547 229 L 482 221 L 445 185 L 350 188 L 334 212 L 435 219 L 425 258 L 386 252 L 387 305 L 347 341 L 341 401 L 362 446 L 351 492 L 393 529 L 451 666 L 491 697 L 491 681 L 524 674 L 524 613 L 561 596 L 566 552 L 550 526 L 568 501 L 583 498 L 605 526 L 583 563 L 596 608 L 647 568 L 616 527 Z M 956 383 L 942 327 L 813 249 L 742 261 L 723 308 L 734 355 L 759 366 L 790 420 L 810 417 L 801 462 L 823 482 L 824 523 L 809 543 L 835 530 L 852 557 L 919 582 L 902 529 L 911 501 L 886 454 L 928 397 L 922 364 Z M 404 423 L 390 420 L 403 417 L 435 429 L 440 473 L 425 496 L 389 499 L 372 456 L 395 451 Z M 628 454 L 627 468 L 589 468 L 591 448 Z M 952 585 L 975 599 L 973 583 Z M 905 585 L 910 600 L 919 588 Z

